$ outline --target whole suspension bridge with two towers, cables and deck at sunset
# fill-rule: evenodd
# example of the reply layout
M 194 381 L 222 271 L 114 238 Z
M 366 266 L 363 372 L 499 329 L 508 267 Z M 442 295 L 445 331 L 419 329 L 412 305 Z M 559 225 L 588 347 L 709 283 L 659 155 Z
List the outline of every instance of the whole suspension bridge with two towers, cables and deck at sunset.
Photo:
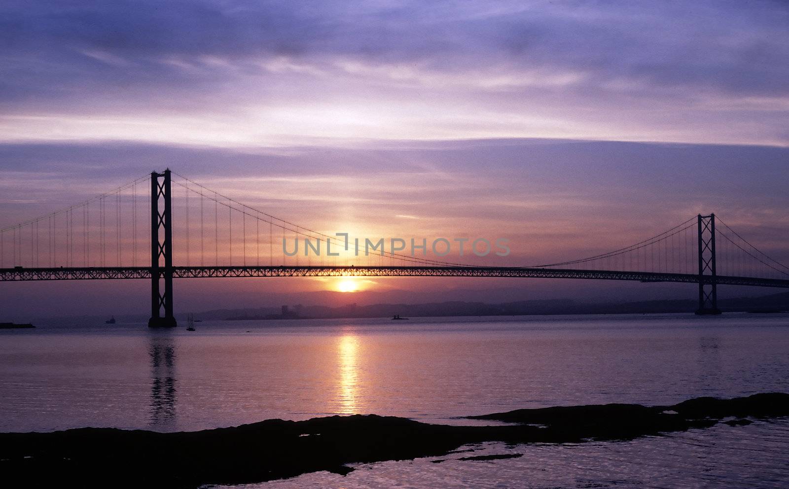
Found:
M 174 188 L 182 191 L 176 199 Z M 286 250 L 289 239 L 294 252 Z M 335 252 L 310 256 L 309 250 L 319 250 L 321 243 Z M 693 216 L 611 252 L 525 267 L 451 263 L 385 252 L 383 246 L 380 251 L 367 251 L 360 254 L 357 243 L 349 246 L 347 238 L 298 226 L 165 170 L 0 229 L 0 282 L 148 279 L 151 327 L 176 326 L 174 278 L 430 276 L 685 282 L 698 285 L 697 314 L 720 313 L 717 286 L 789 288 L 789 267 L 714 214 Z

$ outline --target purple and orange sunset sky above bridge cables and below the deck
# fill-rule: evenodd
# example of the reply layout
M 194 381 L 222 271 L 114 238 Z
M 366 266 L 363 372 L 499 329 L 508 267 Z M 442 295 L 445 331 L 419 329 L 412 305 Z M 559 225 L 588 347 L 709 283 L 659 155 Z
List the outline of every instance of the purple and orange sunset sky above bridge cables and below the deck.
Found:
M 786 2 L 9 0 L 0 227 L 170 166 L 327 233 L 507 237 L 507 265 L 604 252 L 710 211 L 784 259 L 787 24 Z M 178 284 L 183 307 L 338 289 L 197 282 Z M 358 285 L 426 301 L 497 288 L 686 295 L 597 282 Z M 0 284 L 0 307 L 79 314 L 128 296 L 129 311 L 145 308 L 144 284 L 114 287 Z

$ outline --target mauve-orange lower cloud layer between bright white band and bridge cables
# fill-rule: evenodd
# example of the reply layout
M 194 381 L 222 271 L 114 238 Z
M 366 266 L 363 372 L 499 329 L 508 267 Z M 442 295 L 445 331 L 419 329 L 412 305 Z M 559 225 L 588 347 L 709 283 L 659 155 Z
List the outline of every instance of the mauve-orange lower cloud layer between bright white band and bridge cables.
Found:
M 563 250 L 570 253 L 584 233 L 596 233 L 593 243 L 605 251 L 697 212 L 715 211 L 753 236 L 762 236 L 765 226 L 785 231 L 787 151 L 551 140 L 400 147 L 390 141 L 383 149 L 256 153 L 149 144 L 0 144 L 0 224 L 44 215 L 171 166 L 241 202 L 324 232 L 346 226 L 387 236 L 506 232 L 521 244 L 514 253 L 566 259 Z M 30 189 L 38 202 L 17 203 L 31 198 Z M 180 197 L 181 188 L 176 191 Z M 400 218 L 381 217 L 395 215 Z M 555 249 L 545 248 L 545 239 L 555 241 Z

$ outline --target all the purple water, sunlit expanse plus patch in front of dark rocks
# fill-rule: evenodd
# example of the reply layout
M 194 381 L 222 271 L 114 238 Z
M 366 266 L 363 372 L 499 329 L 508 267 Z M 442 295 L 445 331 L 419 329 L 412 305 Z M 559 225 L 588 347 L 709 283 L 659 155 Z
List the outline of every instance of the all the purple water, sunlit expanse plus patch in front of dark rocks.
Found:
M 466 424 L 457 416 L 789 392 L 789 315 L 196 327 L 0 330 L 0 431 L 197 430 L 357 412 Z M 789 422 L 779 420 L 626 443 L 490 443 L 470 448 L 524 456 L 383 462 L 346 478 L 317 473 L 255 487 L 391 487 L 404 481 L 409 487 L 720 487 L 725 481 L 727 487 L 780 487 L 776 480 L 789 480 L 787 435 Z

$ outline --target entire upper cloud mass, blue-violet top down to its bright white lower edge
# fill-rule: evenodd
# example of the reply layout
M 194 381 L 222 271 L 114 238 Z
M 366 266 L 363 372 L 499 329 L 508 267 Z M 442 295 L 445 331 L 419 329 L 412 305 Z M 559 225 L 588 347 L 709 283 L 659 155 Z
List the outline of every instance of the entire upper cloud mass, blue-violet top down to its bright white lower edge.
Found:
M 6 140 L 219 146 L 787 144 L 787 23 L 784 2 L 15 0 L 0 124 Z

